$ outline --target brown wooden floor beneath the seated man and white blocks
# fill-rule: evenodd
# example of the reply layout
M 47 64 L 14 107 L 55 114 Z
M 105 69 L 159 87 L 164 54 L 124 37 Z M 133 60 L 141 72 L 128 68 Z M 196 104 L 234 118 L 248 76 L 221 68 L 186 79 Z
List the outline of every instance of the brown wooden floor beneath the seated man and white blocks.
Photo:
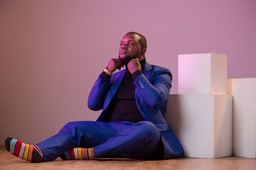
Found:
M 183 158 L 170 160 L 134 160 L 125 158 L 97 160 L 66 160 L 60 158 L 52 162 L 29 163 L 19 159 L 0 146 L 0 169 L 243 169 L 255 170 L 256 159 L 243 157 L 223 157 L 216 159 Z

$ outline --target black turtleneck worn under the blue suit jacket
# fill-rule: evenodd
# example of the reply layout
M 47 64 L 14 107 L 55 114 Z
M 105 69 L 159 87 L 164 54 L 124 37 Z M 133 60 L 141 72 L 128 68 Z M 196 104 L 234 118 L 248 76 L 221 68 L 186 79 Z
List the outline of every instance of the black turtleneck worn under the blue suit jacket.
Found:
M 141 68 L 144 67 L 145 63 L 145 59 L 140 61 Z M 136 86 L 133 83 L 140 74 L 143 74 L 142 70 L 137 70 L 131 74 L 126 67 L 124 79 L 111 102 L 110 109 L 112 109 L 112 114 L 109 121 L 129 121 L 136 123 L 144 120 L 137 108 L 135 100 Z M 103 71 L 101 78 L 110 78 L 110 75 Z

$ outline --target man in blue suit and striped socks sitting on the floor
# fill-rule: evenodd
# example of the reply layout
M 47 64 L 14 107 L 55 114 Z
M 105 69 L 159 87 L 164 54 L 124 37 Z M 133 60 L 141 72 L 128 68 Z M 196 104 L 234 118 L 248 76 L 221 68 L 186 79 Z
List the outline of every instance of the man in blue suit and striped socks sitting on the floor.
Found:
M 184 157 L 183 148 L 165 119 L 171 72 L 145 61 L 146 39 L 127 33 L 119 58 L 112 58 L 90 91 L 88 107 L 102 109 L 96 122 L 67 123 L 36 145 L 7 138 L 5 147 L 29 162 L 125 156 L 135 159 Z M 126 69 L 113 73 L 122 67 Z M 113 74 L 112 74 L 113 73 Z

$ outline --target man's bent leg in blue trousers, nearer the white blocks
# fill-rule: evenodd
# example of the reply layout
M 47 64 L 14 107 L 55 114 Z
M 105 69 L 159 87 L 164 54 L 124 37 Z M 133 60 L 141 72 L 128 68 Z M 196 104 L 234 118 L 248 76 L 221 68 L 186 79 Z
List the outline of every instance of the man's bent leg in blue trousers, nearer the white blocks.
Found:
M 118 135 L 93 148 L 96 158 L 113 156 L 126 156 L 136 159 L 159 158 L 159 156 L 154 154 L 161 153 L 156 151 L 157 148 L 161 148 L 158 147 L 160 132 L 153 123 L 149 121 L 138 123 L 125 121 L 122 129 L 123 131 Z M 72 148 L 62 156 L 65 160 L 79 159 L 79 156 L 73 156 L 73 153 L 78 153 L 79 155 L 81 149 Z M 82 154 L 80 155 L 82 157 Z

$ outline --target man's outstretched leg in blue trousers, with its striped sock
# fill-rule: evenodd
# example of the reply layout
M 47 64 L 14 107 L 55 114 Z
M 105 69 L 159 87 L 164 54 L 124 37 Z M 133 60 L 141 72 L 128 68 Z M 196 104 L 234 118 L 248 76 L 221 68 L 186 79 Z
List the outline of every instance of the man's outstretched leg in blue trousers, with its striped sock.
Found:
M 69 122 L 65 126 L 63 126 L 63 128 L 59 131 L 57 135 L 51 138 L 48 138 L 42 142 L 39 142 L 35 146 L 37 146 L 38 149 L 41 150 L 41 155 L 43 155 L 42 161 L 47 162 L 47 161 L 56 159 L 60 154 L 69 150 L 70 148 L 74 148 L 74 147 L 93 148 L 97 145 L 100 145 L 101 143 L 105 142 L 112 136 L 115 136 L 120 132 L 122 132 L 122 127 L 123 127 L 123 122 L 120 122 L 120 123 L 113 123 L 113 122 L 106 123 L 106 122 L 93 122 L 93 121 Z M 6 149 L 8 149 L 9 147 L 10 152 L 15 150 L 16 152 L 18 152 L 17 155 L 19 155 L 20 150 L 25 152 L 26 149 L 24 150 L 22 147 L 19 147 L 19 151 L 17 151 L 16 143 L 18 144 L 22 143 L 20 141 L 19 142 L 17 141 L 18 140 L 16 139 L 11 139 L 8 141 L 6 139 L 7 145 L 5 144 L 5 146 L 6 146 Z M 24 145 L 27 146 L 27 144 L 25 143 Z M 33 150 L 31 152 L 36 151 L 35 149 Z M 12 154 L 15 155 L 14 153 Z M 32 157 L 31 158 L 32 160 L 34 156 L 33 154 L 30 154 L 30 155 Z M 30 159 L 28 161 L 30 161 Z M 41 162 L 41 161 L 37 160 L 37 162 Z

